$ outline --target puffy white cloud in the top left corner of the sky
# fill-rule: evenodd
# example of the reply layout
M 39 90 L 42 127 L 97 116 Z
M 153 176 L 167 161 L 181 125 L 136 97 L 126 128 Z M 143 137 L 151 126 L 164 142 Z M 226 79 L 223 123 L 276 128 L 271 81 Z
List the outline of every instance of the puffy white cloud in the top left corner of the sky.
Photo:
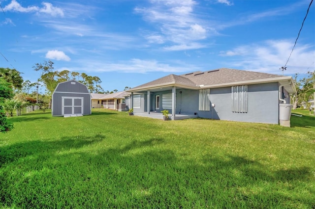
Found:
M 52 16 L 60 15 L 61 17 L 63 17 L 62 9 L 53 6 L 51 3 L 42 2 L 42 4 L 43 4 L 42 8 L 37 7 L 37 6 L 23 7 L 16 0 L 12 0 L 11 3 L 9 3 L 3 8 L 3 11 L 25 12 L 25 13 L 38 12 L 38 13 L 50 14 Z

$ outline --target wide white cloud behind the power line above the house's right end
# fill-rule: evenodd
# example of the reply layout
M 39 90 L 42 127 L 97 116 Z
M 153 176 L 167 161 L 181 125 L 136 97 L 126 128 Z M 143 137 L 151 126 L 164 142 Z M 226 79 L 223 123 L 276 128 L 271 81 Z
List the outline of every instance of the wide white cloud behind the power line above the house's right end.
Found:
M 229 56 L 231 63 L 240 69 L 280 74 L 292 51 L 294 42 L 290 40 L 268 40 L 260 44 L 240 46 L 233 50 L 220 52 Z M 313 46 L 314 47 L 314 46 Z M 287 63 L 287 74 L 304 72 L 315 61 L 315 51 L 310 45 L 296 46 Z

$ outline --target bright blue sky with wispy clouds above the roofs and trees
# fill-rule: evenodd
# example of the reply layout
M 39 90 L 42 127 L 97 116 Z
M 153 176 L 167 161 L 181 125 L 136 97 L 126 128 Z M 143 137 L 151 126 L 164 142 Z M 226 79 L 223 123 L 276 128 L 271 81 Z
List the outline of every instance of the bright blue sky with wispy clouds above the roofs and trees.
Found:
M 314 2 L 279 68 L 310 2 L 0 0 L 0 67 L 34 82 L 32 66 L 52 60 L 99 77 L 105 91 L 223 67 L 303 75 L 315 70 Z

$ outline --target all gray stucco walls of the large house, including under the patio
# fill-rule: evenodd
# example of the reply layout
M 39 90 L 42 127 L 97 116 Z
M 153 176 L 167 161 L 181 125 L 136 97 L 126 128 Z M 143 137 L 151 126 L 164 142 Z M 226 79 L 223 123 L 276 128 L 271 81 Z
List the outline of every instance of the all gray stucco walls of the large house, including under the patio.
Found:
M 171 93 L 171 91 L 152 92 L 150 111 L 161 111 L 162 99 L 159 100 L 159 109 L 156 109 L 155 98 L 159 95 Z M 145 112 L 147 94 L 141 94 L 141 108 L 134 108 L 134 112 Z M 210 111 L 199 111 L 199 90 L 177 89 L 176 90 L 176 114 L 197 113 L 200 118 L 230 120 L 240 122 L 255 122 L 278 124 L 278 83 L 260 83 L 248 85 L 248 112 L 232 112 L 231 87 L 210 89 Z M 172 109 L 168 109 L 172 114 Z

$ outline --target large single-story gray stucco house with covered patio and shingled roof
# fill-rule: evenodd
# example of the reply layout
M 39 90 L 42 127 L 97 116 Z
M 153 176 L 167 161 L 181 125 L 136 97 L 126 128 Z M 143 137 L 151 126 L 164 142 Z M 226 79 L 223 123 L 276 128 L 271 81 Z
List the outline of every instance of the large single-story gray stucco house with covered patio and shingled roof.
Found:
M 156 115 L 167 109 L 172 120 L 197 116 L 279 124 L 282 120 L 289 123 L 281 111 L 291 109 L 289 94 L 295 93 L 295 86 L 290 76 L 220 68 L 171 74 L 127 93 L 134 115 Z

